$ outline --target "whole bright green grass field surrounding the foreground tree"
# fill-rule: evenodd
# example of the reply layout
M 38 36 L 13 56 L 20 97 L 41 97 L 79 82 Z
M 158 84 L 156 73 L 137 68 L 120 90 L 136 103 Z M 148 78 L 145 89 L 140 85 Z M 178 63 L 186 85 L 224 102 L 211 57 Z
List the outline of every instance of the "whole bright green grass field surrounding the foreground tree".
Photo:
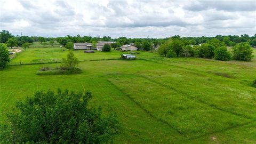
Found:
M 117 114 L 122 124 L 114 143 L 256 143 L 256 50 L 251 62 L 161 58 L 140 52 L 75 51 L 82 74 L 39 76 L 59 66 L 68 51 L 30 48 L 1 71 L 1 119 L 15 102 L 38 90 L 89 90 L 90 105 Z M 108 60 L 109 59 L 109 60 Z M 20 65 L 28 63 L 46 63 Z

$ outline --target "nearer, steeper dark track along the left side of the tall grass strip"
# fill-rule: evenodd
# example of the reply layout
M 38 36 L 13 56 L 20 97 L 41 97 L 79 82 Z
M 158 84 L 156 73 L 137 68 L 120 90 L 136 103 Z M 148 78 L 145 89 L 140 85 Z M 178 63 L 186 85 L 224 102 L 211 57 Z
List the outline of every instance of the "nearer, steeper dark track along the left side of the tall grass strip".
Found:
M 129 98 L 133 103 L 135 103 L 135 105 L 137 105 L 140 109 L 142 109 L 143 111 L 145 111 L 146 114 L 148 114 L 151 118 L 155 119 L 158 122 L 162 122 L 165 125 L 169 126 L 171 129 L 175 130 L 177 133 L 179 133 L 182 137 L 185 137 L 185 134 L 183 134 L 182 132 L 178 131 L 177 129 L 175 129 L 171 124 L 169 124 L 168 122 L 164 121 L 161 118 L 156 117 L 155 115 L 151 114 L 147 109 L 143 108 L 140 103 L 138 103 L 137 101 L 135 101 L 132 97 L 130 97 L 130 94 L 126 94 L 124 93 L 122 90 L 120 90 L 114 83 L 112 83 L 111 81 L 109 81 L 109 79 L 107 79 L 107 81 L 113 85 L 115 87 L 115 89 L 117 89 L 118 91 L 120 91 L 123 95 L 125 95 L 127 98 Z

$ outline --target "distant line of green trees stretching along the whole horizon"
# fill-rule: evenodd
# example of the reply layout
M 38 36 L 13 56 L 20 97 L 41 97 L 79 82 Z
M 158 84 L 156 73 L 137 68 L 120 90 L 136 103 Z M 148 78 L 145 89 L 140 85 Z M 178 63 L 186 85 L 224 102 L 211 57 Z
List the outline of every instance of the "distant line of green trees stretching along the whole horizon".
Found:
M 47 42 L 47 41 L 57 41 L 61 45 L 66 45 L 67 42 L 73 43 L 92 43 L 92 42 L 99 42 L 99 41 L 106 41 L 106 42 L 119 42 L 119 44 L 135 44 L 139 49 L 142 49 L 143 42 L 150 42 L 154 47 L 157 47 L 167 41 L 169 38 L 179 38 L 186 44 L 201 44 L 210 41 L 212 38 L 217 38 L 219 41 L 224 42 L 227 46 L 235 46 L 237 43 L 241 42 L 248 42 L 251 46 L 256 46 L 256 34 L 254 36 L 249 36 L 247 34 L 241 36 L 221 36 L 217 35 L 215 37 L 180 37 L 179 35 L 175 35 L 172 37 L 166 38 L 126 38 L 126 37 L 119 37 L 119 38 L 111 38 L 109 36 L 103 37 L 91 37 L 91 36 L 70 36 L 67 35 L 66 37 L 41 37 L 41 36 L 13 36 L 9 31 L 2 30 L 0 32 L 0 43 L 6 43 L 9 38 L 13 38 L 16 41 L 18 46 L 21 46 L 24 43 L 33 43 L 33 42 Z

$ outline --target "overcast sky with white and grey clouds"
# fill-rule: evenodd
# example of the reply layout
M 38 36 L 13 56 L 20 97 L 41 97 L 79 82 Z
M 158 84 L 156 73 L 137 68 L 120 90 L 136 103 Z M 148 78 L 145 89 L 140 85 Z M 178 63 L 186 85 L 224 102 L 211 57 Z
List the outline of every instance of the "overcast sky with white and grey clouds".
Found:
M 0 0 L 13 35 L 169 37 L 256 33 L 253 1 Z

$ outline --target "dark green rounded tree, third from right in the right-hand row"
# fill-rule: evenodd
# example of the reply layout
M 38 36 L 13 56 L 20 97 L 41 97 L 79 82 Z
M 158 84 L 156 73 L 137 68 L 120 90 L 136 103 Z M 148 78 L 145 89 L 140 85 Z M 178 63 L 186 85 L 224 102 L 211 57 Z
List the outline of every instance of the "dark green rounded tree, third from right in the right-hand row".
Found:
M 200 58 L 213 58 L 214 57 L 214 46 L 211 44 L 202 44 L 199 47 L 198 57 Z

